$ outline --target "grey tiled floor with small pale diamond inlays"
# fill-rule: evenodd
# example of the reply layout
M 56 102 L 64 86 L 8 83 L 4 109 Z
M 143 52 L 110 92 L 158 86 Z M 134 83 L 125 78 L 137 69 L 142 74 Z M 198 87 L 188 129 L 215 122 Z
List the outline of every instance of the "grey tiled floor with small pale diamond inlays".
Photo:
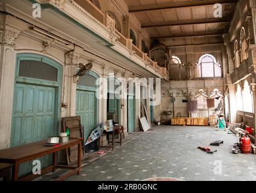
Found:
M 217 153 L 197 149 L 216 140 L 224 141 L 213 147 Z M 155 126 L 66 180 L 256 180 L 256 155 L 232 154 L 235 142 L 234 134 L 214 127 Z

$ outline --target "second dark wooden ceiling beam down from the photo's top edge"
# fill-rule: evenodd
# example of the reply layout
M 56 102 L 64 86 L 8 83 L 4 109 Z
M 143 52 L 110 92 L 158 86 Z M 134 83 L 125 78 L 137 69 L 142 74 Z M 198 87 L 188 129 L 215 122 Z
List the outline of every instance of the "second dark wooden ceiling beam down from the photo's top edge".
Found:
M 214 19 L 197 19 L 191 21 L 173 21 L 165 24 L 142 24 L 141 28 L 169 27 L 178 25 L 196 25 L 196 24 L 222 24 L 230 23 L 231 17 L 214 18 Z

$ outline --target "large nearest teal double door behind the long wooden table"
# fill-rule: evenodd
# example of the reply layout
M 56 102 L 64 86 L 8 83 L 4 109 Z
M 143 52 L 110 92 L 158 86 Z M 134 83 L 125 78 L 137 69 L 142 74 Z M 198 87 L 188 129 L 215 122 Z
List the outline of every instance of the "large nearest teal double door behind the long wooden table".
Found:
M 56 136 L 56 88 L 16 83 L 11 132 L 11 147 Z M 42 168 L 51 164 L 51 156 L 39 160 Z M 19 176 L 30 173 L 31 168 L 32 162 L 22 163 Z

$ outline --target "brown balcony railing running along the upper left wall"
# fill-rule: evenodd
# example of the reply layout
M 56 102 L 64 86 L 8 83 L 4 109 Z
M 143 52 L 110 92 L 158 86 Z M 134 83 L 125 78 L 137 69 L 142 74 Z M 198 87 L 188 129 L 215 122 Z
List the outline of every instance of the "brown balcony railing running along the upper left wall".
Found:
M 101 24 L 104 24 L 107 26 L 107 13 L 103 13 L 98 7 L 96 7 L 91 1 L 89 0 L 74 0 L 78 5 L 80 5 L 82 8 L 84 8 L 89 14 L 91 14 L 95 19 L 101 22 Z M 168 71 L 166 68 L 160 68 L 158 66 L 157 62 L 153 62 L 147 54 L 142 52 L 139 48 L 137 48 L 135 45 L 132 44 L 131 39 L 127 39 L 123 34 L 121 34 L 117 29 L 115 29 L 115 33 L 118 34 L 118 42 L 120 42 L 122 45 L 126 46 L 126 48 L 132 50 L 135 52 L 138 57 L 143 59 L 145 62 L 149 63 L 150 66 L 155 68 L 155 70 L 165 77 L 168 77 Z

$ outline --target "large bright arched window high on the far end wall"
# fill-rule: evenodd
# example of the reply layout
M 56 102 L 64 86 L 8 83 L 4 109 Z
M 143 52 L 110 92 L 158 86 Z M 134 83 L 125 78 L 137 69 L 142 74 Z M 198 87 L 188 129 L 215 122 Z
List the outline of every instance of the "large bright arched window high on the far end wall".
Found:
M 211 54 L 202 55 L 197 65 L 197 77 L 221 77 L 222 68 Z

